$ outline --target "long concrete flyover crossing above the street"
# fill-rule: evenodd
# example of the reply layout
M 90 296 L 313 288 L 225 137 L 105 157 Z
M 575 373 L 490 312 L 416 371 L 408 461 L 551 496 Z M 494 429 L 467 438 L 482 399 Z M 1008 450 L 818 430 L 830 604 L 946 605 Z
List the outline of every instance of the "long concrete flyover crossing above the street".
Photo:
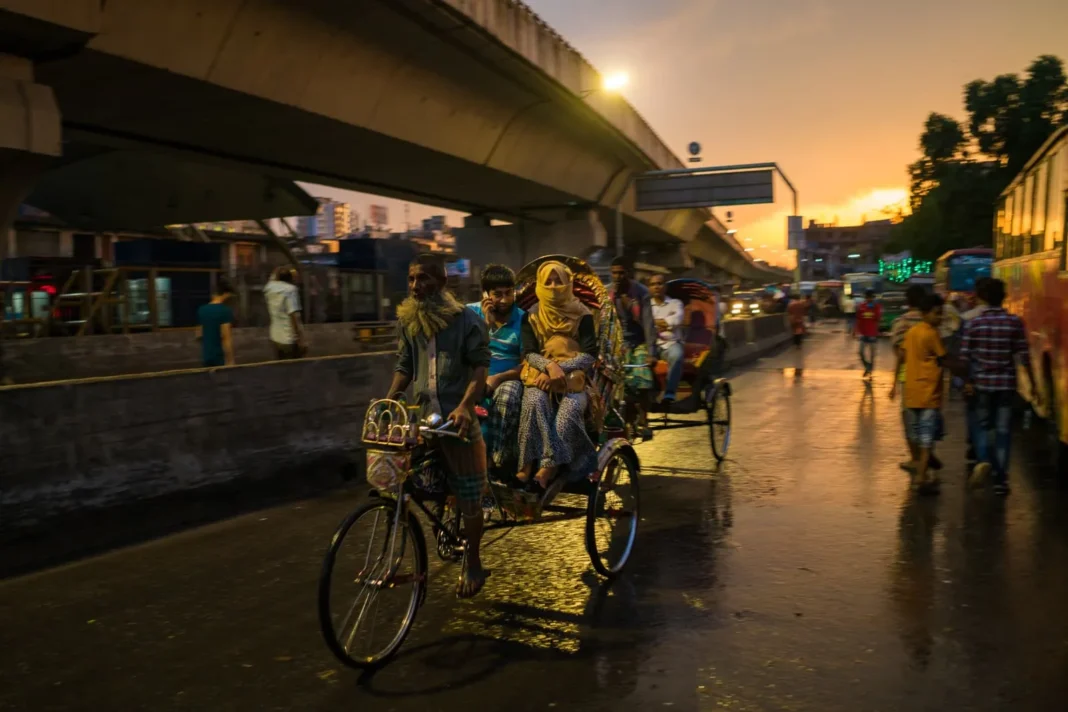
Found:
M 507 220 L 524 257 L 610 243 L 622 205 L 628 248 L 783 275 L 706 210 L 634 210 L 630 178 L 680 162 L 513 0 L 0 0 L 0 52 L 9 85 L 52 97 L 11 117 L 61 121 L 63 158 L 14 146 L 35 165 L 92 146 L 365 190 Z M 484 225 L 472 244 L 505 237 Z

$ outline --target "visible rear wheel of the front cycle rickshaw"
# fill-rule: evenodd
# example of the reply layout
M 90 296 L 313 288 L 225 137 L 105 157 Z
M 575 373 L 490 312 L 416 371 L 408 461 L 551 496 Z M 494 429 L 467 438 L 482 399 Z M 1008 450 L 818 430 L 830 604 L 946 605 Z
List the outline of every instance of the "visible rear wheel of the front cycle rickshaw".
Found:
M 638 538 L 638 458 L 629 448 L 612 455 L 593 485 L 586 505 L 586 553 L 597 573 L 614 579 L 627 565 Z

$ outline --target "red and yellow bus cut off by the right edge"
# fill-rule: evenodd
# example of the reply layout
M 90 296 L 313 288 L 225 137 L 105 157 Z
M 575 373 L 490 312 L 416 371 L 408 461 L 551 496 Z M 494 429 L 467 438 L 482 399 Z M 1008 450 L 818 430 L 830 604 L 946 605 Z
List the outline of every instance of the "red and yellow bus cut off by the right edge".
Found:
M 1058 465 L 1068 454 L 1068 127 L 1042 144 L 1020 175 L 1002 192 L 994 221 L 994 275 L 1004 280 L 1005 307 L 1022 317 L 1031 341 L 1031 361 L 1056 438 Z M 1031 399 L 1026 381 L 1021 395 Z

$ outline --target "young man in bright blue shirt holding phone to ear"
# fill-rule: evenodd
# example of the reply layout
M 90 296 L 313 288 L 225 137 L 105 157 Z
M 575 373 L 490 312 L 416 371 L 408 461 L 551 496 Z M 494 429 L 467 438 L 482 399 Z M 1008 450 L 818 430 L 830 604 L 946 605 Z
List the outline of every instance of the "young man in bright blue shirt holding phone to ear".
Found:
M 482 302 L 468 308 L 486 320 L 489 330 L 489 410 L 483 432 L 494 468 L 514 465 L 519 459 L 519 411 L 523 384 L 519 381 L 523 311 L 516 306 L 516 273 L 504 265 L 482 270 Z

